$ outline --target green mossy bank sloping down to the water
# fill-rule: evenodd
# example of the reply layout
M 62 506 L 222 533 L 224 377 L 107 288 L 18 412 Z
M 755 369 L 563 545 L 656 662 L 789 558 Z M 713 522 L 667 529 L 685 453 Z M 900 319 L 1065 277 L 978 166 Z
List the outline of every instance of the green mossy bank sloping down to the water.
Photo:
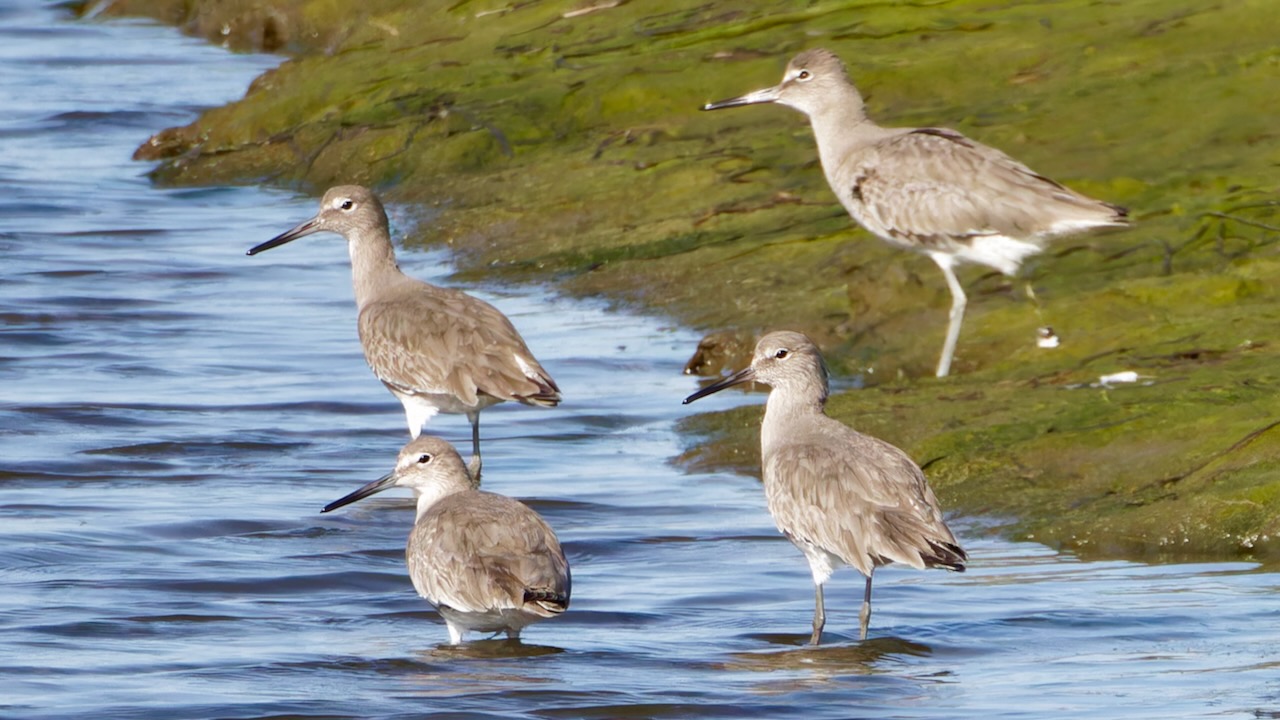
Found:
M 1280 555 L 1280 14 L 1265 0 L 95 9 L 293 58 L 143 143 L 157 183 L 358 182 L 430 208 L 410 242 L 447 243 L 466 281 L 553 282 L 739 337 L 803 329 L 865 380 L 832 415 L 1014 537 Z M 845 58 L 879 122 L 960 129 L 1129 206 L 1135 228 L 1060 241 L 1019 279 L 963 270 L 955 374 L 932 378 L 942 278 L 852 225 L 804 118 L 696 110 L 812 46 Z M 1043 324 L 1062 347 L 1036 347 Z M 1121 370 L 1139 382 L 1100 383 Z M 684 461 L 755 471 L 758 418 L 692 415 Z

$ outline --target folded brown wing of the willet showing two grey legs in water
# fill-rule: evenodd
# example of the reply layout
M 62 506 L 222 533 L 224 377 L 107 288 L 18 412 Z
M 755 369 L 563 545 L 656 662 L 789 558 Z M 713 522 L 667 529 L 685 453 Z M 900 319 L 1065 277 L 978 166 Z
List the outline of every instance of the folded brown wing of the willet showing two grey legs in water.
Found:
M 787 443 L 764 459 L 764 492 L 780 530 L 863 574 L 888 561 L 963 568 L 964 551 L 919 466 L 876 438 Z

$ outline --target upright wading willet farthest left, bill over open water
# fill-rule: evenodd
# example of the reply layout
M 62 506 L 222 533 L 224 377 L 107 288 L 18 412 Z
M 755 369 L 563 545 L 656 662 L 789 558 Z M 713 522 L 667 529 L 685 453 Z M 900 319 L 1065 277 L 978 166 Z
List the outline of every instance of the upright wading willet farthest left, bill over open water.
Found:
M 316 232 L 347 238 L 365 360 L 404 405 L 411 437 L 436 413 L 465 414 L 471 421 L 470 469 L 479 479 L 481 410 L 504 400 L 559 404 L 556 380 L 497 307 L 401 272 L 387 211 L 367 188 L 329 190 L 316 217 L 248 254 Z

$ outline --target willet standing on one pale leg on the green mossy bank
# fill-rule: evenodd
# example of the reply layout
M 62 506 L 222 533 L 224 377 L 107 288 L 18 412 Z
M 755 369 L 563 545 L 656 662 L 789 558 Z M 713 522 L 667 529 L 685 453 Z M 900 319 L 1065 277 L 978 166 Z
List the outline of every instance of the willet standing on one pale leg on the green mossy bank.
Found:
M 808 115 L 827 183 L 849 214 L 872 234 L 923 252 L 942 269 L 951 315 L 940 378 L 951 370 L 964 320 L 956 264 L 1011 275 L 1048 238 L 1128 224 L 1124 208 L 1085 197 L 956 131 L 877 126 L 840 58 L 827 50 L 796 55 L 774 87 L 703 109 L 756 102 Z

